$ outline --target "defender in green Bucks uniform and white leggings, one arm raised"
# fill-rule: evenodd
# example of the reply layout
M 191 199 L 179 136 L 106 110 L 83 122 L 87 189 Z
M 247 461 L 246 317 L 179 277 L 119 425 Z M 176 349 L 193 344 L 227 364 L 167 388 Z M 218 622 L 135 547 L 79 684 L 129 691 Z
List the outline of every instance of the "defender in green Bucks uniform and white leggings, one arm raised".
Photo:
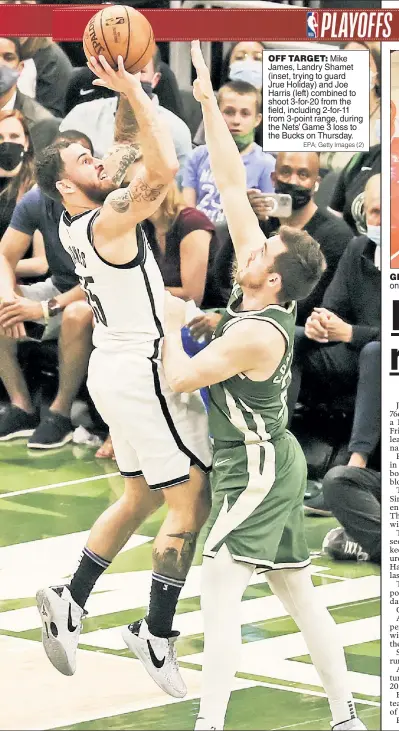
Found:
M 364 729 L 336 625 L 312 584 L 303 523 L 306 462 L 285 428 L 295 300 L 318 282 L 323 256 L 302 230 L 281 227 L 265 241 L 198 41 L 192 57 L 194 95 L 202 105 L 212 172 L 238 260 L 236 284 L 215 338 L 191 360 L 181 347 L 181 303 L 167 299 L 166 377 L 176 392 L 211 387 L 215 440 L 201 594 L 203 691 L 195 728 L 223 729 L 238 669 L 240 602 L 258 569 L 268 571 L 273 592 L 304 635 L 328 695 L 333 728 Z

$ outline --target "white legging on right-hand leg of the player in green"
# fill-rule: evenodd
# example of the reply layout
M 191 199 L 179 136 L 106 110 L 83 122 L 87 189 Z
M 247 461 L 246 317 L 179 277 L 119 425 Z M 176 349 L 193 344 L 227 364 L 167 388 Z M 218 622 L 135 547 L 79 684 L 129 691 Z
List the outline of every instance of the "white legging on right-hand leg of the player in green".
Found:
M 356 716 L 348 671 L 337 625 L 321 602 L 311 579 L 310 566 L 266 574 L 273 593 L 295 620 L 328 696 L 333 723 Z

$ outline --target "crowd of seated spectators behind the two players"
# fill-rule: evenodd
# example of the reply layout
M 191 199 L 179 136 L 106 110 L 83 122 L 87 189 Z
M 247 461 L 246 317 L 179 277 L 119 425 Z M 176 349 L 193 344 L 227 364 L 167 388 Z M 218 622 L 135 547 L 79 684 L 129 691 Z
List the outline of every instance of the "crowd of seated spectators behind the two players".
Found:
M 356 45 L 364 48 L 348 47 Z M 332 405 L 342 394 L 352 398 L 347 457 L 326 474 L 318 496 L 325 513 L 334 513 L 342 525 L 326 537 L 325 550 L 338 558 L 378 561 L 379 53 L 371 48 L 370 150 L 326 156 L 272 155 L 262 149 L 262 51 L 259 42 L 233 44 L 215 92 L 265 235 L 282 224 L 304 229 L 320 243 L 327 262 L 319 285 L 298 303 L 290 424 L 295 430 L 295 409 L 309 382 L 316 407 L 318 399 Z M 24 436 L 36 449 L 73 438 L 71 408 L 85 382 L 92 316 L 59 241 L 61 205 L 35 185 L 34 155 L 61 138 L 106 156 L 118 107 L 117 95 L 92 86 L 91 71 L 76 67 L 71 58 L 73 63 L 49 38 L 0 37 L 0 379 L 5 391 L 0 441 Z M 158 48 L 141 83 L 171 130 L 180 164 L 144 228 L 165 287 L 202 308 L 189 324 L 189 338 L 191 345 L 206 347 L 228 301 L 234 250 L 201 120 L 194 129 L 195 114 L 187 112 L 184 91 Z M 291 197 L 288 217 L 270 214 L 270 193 Z M 18 342 L 27 339 L 58 341 L 58 391 L 41 410 L 18 357 Z M 100 456 L 112 456 L 109 440 Z

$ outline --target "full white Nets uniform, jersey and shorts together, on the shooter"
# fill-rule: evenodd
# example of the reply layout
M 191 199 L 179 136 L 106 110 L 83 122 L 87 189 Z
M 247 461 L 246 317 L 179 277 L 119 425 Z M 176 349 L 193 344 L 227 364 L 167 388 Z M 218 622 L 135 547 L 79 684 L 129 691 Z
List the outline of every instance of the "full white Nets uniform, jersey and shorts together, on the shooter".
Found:
M 212 457 L 208 420 L 198 392 L 172 393 L 161 363 L 165 289 L 141 226 L 138 253 L 128 264 L 107 263 L 93 246 L 100 209 L 64 213 L 60 239 L 93 309 L 95 346 L 87 385 L 108 424 L 119 470 L 144 476 L 159 490 L 207 472 Z

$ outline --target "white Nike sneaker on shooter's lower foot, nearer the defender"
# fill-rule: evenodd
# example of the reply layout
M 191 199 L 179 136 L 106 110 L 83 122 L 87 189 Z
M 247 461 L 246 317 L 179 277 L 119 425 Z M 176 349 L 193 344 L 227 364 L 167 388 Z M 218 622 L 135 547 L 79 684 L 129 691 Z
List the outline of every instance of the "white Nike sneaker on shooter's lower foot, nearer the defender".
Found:
M 175 648 L 179 632 L 171 637 L 151 634 L 145 619 L 122 629 L 122 637 L 129 650 L 141 660 L 145 669 L 165 693 L 174 698 L 184 698 L 187 688 L 179 672 Z

